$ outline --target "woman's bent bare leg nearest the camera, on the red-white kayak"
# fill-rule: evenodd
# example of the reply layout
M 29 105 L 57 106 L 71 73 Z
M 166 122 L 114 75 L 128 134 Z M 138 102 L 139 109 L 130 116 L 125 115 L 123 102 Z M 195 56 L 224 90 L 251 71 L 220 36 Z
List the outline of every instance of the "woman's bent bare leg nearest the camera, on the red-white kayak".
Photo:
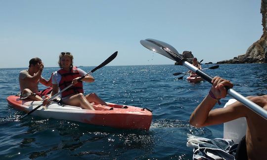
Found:
M 69 98 L 62 99 L 62 102 L 67 105 L 81 106 L 83 109 L 95 110 L 92 105 L 88 102 L 83 93 L 78 93 Z

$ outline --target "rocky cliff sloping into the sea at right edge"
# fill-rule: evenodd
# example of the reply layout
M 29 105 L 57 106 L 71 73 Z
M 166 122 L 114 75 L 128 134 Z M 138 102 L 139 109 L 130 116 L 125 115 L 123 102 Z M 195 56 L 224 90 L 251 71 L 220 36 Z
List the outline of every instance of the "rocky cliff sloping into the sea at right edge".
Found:
M 262 0 L 261 13 L 263 15 L 261 39 L 254 42 L 245 54 L 217 63 L 267 63 L 267 0 Z

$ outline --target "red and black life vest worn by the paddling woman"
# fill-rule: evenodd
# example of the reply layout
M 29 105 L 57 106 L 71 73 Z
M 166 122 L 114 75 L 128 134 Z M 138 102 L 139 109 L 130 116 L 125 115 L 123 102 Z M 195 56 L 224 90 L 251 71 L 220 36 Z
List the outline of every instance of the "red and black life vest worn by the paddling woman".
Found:
M 61 80 L 59 81 L 59 84 L 58 84 L 60 90 L 69 86 L 73 79 L 75 79 L 77 77 L 81 77 L 77 67 L 71 68 L 70 72 L 63 70 L 63 69 L 61 69 L 57 72 L 61 75 Z M 61 93 L 61 96 L 65 97 L 65 96 L 68 96 L 71 94 L 77 94 L 77 93 L 84 93 L 82 81 L 75 84 L 75 86 L 71 86 L 68 89 L 66 89 L 65 91 L 63 91 Z

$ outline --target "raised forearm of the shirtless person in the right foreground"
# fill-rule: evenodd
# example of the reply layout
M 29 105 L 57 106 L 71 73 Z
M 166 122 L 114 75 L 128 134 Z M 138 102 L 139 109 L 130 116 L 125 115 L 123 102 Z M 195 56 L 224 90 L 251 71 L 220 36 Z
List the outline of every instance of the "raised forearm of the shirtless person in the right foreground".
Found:
M 190 124 L 195 127 L 205 126 L 205 122 L 209 116 L 209 113 L 216 103 L 216 99 L 207 95 L 191 114 Z

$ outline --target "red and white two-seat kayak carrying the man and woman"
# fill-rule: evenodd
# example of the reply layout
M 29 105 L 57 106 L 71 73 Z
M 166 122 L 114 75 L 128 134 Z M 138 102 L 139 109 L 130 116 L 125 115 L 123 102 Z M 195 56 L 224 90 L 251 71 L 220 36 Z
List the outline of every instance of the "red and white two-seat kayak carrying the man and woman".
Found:
M 33 110 L 43 102 L 26 99 L 20 100 L 20 97 L 15 95 L 8 96 L 7 101 L 13 108 L 24 112 Z M 150 110 L 114 103 L 107 104 L 108 106 L 93 105 L 95 109 L 95 111 L 93 111 L 76 106 L 59 105 L 57 102 L 51 101 L 51 103 L 46 106 L 47 109 L 40 107 L 31 115 L 42 118 L 73 120 L 114 128 L 149 130 L 152 121 L 152 113 Z

